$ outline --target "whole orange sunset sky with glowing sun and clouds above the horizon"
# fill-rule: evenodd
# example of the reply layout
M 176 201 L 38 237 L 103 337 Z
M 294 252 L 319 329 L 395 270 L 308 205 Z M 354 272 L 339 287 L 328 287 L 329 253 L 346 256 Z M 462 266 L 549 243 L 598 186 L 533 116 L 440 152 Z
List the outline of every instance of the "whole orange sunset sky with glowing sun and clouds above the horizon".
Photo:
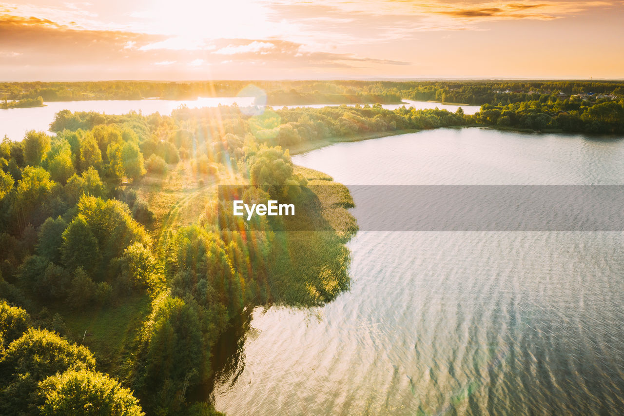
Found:
M 0 81 L 624 78 L 624 1 L 0 4 Z

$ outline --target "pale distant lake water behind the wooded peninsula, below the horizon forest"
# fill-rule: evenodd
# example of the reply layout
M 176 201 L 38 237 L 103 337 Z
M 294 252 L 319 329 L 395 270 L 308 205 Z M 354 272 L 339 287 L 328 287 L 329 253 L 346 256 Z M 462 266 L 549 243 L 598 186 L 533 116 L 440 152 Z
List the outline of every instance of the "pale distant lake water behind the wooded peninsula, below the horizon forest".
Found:
M 231 106 L 246 107 L 253 104 L 254 97 L 213 97 L 198 98 L 197 100 L 95 100 L 95 101 L 57 101 L 46 102 L 45 107 L 0 109 L 0 139 L 6 134 L 9 139 L 20 141 L 29 130 L 48 131 L 54 121 L 54 115 L 61 110 L 70 111 L 97 111 L 106 114 L 126 114 L 130 111 L 140 111 L 143 114 L 171 114 L 172 110 L 184 105 L 189 108 Z M 386 109 L 394 110 L 401 106 L 415 107 L 417 109 L 435 108 L 456 111 L 458 106 L 447 106 L 436 102 L 409 101 L 406 104 L 383 104 Z M 276 106 L 275 108 L 278 108 Z M 289 106 L 321 108 L 324 105 Z M 463 106 L 466 114 L 474 114 L 479 111 L 479 106 Z

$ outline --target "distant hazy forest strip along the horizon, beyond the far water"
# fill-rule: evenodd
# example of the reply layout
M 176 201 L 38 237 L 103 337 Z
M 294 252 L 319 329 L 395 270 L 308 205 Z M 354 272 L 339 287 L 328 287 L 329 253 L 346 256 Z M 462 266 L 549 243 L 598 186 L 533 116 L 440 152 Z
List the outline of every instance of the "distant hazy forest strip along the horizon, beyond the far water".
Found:
M 1 82 L 0 98 L 80 101 L 235 97 L 249 92 L 246 88 L 250 84 L 265 92 L 271 106 L 384 104 L 401 99 L 497 106 L 552 94 L 580 94 L 590 99 L 597 95 L 620 99 L 624 96 L 623 81 L 99 81 Z

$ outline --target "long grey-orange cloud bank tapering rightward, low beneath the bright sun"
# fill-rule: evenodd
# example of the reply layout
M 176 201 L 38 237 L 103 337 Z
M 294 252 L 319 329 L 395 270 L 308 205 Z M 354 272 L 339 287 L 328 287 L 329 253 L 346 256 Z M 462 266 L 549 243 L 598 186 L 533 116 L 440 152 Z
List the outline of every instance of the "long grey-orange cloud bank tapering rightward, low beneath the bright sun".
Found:
M 354 53 L 331 52 L 301 42 L 280 39 L 211 39 L 202 49 L 176 48 L 178 37 L 127 31 L 96 31 L 50 19 L 0 16 L 0 72 L 4 79 L 167 79 L 205 76 L 205 69 L 222 77 L 242 71 L 241 62 L 266 68 L 267 73 L 290 69 L 401 66 L 409 62 Z M 183 40 L 183 39 L 182 39 Z M 225 59 L 224 59 L 225 58 Z M 203 72 L 202 72 L 203 70 Z M 132 76 L 132 74 L 135 74 Z

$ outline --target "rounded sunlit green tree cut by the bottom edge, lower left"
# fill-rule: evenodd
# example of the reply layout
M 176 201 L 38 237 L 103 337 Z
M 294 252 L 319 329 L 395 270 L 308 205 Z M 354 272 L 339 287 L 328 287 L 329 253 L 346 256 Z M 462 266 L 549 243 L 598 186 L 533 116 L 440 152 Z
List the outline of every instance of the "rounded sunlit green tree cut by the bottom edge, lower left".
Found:
M 143 416 L 129 389 L 109 376 L 69 370 L 39 383 L 41 416 Z

